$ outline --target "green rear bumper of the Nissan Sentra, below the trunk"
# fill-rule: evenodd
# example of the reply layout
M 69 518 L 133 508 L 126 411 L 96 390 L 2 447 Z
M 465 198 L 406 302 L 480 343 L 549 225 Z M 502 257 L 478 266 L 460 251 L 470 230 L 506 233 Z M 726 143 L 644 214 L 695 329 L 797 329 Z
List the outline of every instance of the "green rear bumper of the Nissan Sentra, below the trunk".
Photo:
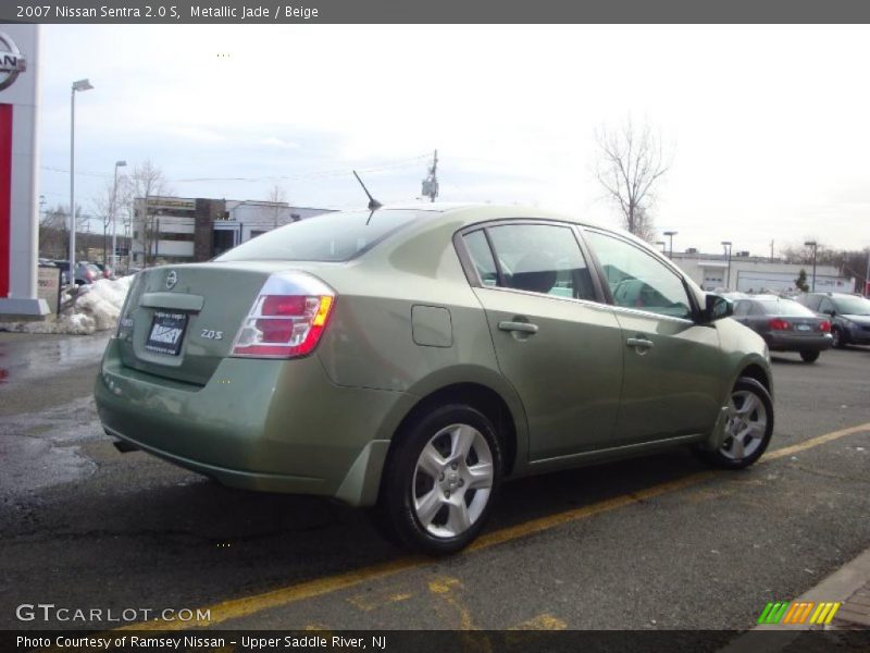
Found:
M 95 395 L 108 433 L 248 490 L 376 498 L 406 393 L 332 383 L 316 357 L 224 359 L 204 386 L 124 366 L 107 349 Z

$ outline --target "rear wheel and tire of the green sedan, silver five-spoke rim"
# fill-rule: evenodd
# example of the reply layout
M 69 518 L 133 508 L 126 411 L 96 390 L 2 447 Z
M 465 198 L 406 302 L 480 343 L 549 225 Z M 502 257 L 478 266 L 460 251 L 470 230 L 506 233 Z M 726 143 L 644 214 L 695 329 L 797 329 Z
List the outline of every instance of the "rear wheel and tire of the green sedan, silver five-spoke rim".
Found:
M 483 529 L 501 481 L 502 447 L 492 421 L 450 404 L 396 436 L 375 523 L 394 542 L 428 555 L 464 549 Z

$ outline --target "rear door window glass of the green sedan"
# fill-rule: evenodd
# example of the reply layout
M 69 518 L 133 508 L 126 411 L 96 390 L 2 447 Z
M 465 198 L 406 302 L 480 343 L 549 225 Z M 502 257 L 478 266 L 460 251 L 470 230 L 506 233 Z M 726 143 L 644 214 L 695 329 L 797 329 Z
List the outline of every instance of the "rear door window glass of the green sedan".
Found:
M 486 233 L 497 259 L 499 286 L 556 297 L 596 299 L 592 274 L 570 227 L 504 224 L 486 227 Z M 472 246 L 469 244 L 469 249 Z M 476 259 L 475 264 L 481 272 Z M 492 285 L 483 272 L 481 276 L 485 285 Z

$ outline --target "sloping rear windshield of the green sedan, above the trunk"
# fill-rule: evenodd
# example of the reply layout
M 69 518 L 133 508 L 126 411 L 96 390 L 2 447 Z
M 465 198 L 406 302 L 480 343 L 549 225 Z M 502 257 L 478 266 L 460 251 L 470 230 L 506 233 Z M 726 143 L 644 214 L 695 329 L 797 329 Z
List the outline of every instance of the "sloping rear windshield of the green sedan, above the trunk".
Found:
M 347 261 L 407 226 L 413 210 L 348 211 L 314 215 L 268 232 L 215 261 Z

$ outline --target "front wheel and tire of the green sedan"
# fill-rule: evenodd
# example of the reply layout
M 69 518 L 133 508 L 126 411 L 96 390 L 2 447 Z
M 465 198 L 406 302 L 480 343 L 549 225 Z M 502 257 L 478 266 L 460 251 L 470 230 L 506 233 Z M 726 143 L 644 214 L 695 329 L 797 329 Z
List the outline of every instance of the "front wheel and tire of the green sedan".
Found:
M 729 399 L 730 416 L 725 439 L 717 451 L 697 448 L 708 465 L 722 469 L 743 469 L 758 460 L 773 434 L 773 401 L 755 379 L 741 377 Z

